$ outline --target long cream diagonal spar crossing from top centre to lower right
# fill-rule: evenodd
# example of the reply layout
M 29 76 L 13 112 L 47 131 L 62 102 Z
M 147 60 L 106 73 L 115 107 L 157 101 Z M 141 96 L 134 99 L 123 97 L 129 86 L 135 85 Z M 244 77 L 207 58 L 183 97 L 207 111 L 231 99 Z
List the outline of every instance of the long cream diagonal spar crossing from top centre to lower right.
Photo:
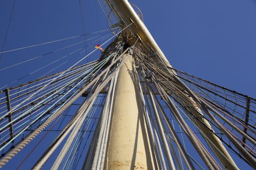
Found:
M 151 51 L 156 52 L 158 57 L 166 65 L 166 68 L 167 67 L 172 68 L 172 66 L 168 62 L 167 58 L 165 57 L 164 53 L 158 47 L 158 44 L 156 43 L 156 41 L 154 40 L 154 38 L 148 31 L 145 24 L 140 20 L 140 18 L 134 11 L 134 9 L 131 6 L 131 4 L 129 3 L 129 1 L 128 0 L 108 0 L 108 2 L 110 4 L 110 7 L 112 8 L 112 10 L 115 11 L 115 13 L 119 15 L 118 17 L 121 17 L 127 23 L 129 23 L 131 21 L 134 22 L 134 24 L 131 25 L 131 30 L 133 31 L 134 34 L 137 34 L 139 36 L 139 38 L 141 38 L 141 41 L 144 44 L 144 46 L 147 45 L 147 46 L 149 46 Z M 170 70 L 169 70 L 169 73 L 171 75 L 176 74 L 174 71 L 171 72 Z M 177 83 L 179 83 L 179 84 L 181 83 L 181 81 L 176 76 L 174 76 L 174 78 L 176 79 Z M 189 89 L 187 88 L 187 90 L 189 90 Z M 199 112 L 199 114 L 196 113 L 196 111 L 192 111 L 192 113 L 195 113 L 195 115 L 197 115 L 197 116 L 202 115 L 202 112 L 199 108 L 200 104 L 195 102 L 189 95 L 180 94 L 180 99 L 181 100 L 179 102 L 184 107 L 186 107 L 186 104 L 182 101 L 187 101 L 191 105 L 194 105 L 195 107 L 197 107 L 197 112 Z M 188 115 L 191 116 L 190 114 L 188 114 Z M 212 130 L 211 124 L 206 119 L 203 119 L 203 118 L 202 119 L 194 119 L 194 121 L 199 125 L 199 128 L 201 129 L 203 136 L 206 136 L 206 139 L 205 139 L 206 142 L 211 146 L 211 149 L 216 154 L 216 156 L 219 159 L 219 161 L 221 162 L 222 166 L 228 170 L 231 170 L 234 168 L 237 169 L 234 160 L 232 159 L 230 154 L 227 152 L 226 148 L 223 146 L 220 139 L 214 135 L 214 131 Z M 207 127 L 205 127 L 202 124 L 202 122 L 205 123 L 207 125 Z

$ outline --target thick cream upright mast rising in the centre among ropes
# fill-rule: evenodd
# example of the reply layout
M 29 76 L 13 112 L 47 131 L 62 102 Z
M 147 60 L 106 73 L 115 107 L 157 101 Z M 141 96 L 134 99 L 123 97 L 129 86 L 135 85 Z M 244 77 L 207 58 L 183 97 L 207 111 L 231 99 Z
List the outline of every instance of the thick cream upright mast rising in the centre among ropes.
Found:
M 130 54 L 123 57 L 127 55 Z M 134 67 L 130 56 L 118 73 L 105 160 L 108 170 L 152 170 L 154 167 L 139 89 L 134 84 Z

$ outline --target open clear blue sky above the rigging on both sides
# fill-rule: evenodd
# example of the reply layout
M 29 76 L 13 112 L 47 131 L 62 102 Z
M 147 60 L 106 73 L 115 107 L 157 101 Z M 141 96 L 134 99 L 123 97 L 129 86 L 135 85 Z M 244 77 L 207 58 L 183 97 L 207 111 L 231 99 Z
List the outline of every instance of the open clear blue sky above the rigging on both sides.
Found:
M 106 17 L 97 0 L 81 2 L 86 33 L 107 29 Z M 140 8 L 144 23 L 175 68 L 256 97 L 256 0 L 131 2 Z M 0 0 L 0 51 L 12 4 L 13 0 Z M 80 34 L 83 34 L 83 29 L 79 0 L 16 0 L 4 51 Z M 81 40 L 83 38 L 5 53 L 0 68 Z M 82 45 L 72 50 L 79 47 Z M 0 86 L 72 50 L 0 71 Z M 97 51 L 91 59 L 97 59 L 99 54 Z M 59 70 L 68 68 L 77 59 Z M 28 76 L 17 84 L 33 80 L 60 63 Z

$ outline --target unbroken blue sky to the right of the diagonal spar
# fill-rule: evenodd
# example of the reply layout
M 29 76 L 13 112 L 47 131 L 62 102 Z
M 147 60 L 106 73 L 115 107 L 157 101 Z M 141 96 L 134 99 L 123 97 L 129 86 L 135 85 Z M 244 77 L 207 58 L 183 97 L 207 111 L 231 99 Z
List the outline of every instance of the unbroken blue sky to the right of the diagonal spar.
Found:
M 148 0 L 137 4 L 174 67 L 256 96 L 255 0 Z

